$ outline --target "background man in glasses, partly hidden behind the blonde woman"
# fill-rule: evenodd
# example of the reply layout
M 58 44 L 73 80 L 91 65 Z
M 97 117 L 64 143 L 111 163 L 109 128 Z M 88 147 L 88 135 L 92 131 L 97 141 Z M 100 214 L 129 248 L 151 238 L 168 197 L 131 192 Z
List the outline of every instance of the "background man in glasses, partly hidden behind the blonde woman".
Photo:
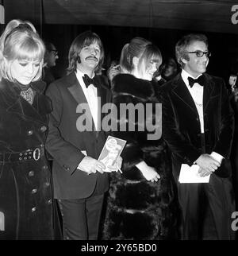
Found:
M 59 59 L 58 51 L 56 46 L 50 42 L 44 42 L 45 45 L 45 54 L 44 54 L 44 72 L 43 80 L 46 83 L 46 86 L 56 80 L 52 68 L 56 66 L 56 60 Z

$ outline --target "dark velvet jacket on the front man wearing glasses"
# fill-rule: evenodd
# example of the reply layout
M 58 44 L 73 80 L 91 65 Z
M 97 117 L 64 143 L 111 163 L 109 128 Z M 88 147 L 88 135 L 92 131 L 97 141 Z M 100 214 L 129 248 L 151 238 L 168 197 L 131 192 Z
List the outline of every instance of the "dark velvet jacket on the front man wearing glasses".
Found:
M 225 157 L 216 171 L 218 176 L 225 177 L 231 174 L 228 158 L 232 145 L 233 112 L 224 81 L 208 74 L 204 76 L 205 153 L 215 151 Z M 181 74 L 165 83 L 160 95 L 163 107 L 162 134 L 171 148 L 174 169 L 178 174 L 182 163 L 193 165 L 204 153 L 198 111 Z

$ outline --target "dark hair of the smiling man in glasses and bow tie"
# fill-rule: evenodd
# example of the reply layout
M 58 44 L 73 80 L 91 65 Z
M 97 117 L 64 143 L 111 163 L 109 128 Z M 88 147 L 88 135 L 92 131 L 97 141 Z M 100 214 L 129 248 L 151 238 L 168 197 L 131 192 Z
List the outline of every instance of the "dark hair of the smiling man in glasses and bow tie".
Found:
M 186 53 L 186 48 L 191 45 L 194 41 L 202 41 L 208 46 L 208 39 L 203 34 L 190 33 L 182 37 L 175 46 L 175 54 L 178 63 L 183 67 L 184 63 L 182 59 L 190 60 L 189 55 Z

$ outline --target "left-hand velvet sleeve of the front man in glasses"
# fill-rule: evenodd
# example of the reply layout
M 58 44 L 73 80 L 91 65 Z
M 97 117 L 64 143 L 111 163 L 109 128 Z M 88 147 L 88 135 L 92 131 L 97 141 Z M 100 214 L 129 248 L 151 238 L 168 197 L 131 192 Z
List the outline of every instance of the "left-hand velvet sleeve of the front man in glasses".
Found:
M 162 136 L 170 147 L 172 153 L 181 158 L 183 163 L 193 165 L 201 152 L 194 147 L 179 131 L 176 123 L 175 106 L 171 102 L 169 92 L 160 91 L 162 103 Z

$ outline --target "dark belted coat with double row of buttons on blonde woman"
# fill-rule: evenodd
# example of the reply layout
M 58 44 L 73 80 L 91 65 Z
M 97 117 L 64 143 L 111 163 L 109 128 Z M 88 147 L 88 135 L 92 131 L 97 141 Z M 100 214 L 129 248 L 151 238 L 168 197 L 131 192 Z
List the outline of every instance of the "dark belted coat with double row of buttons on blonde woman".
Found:
M 43 153 L 52 109 L 40 93 L 44 83 L 32 87 L 30 105 L 16 83 L 0 83 L 0 239 L 53 239 L 52 186 Z M 39 159 L 32 151 L 25 161 L 24 151 L 36 148 Z

